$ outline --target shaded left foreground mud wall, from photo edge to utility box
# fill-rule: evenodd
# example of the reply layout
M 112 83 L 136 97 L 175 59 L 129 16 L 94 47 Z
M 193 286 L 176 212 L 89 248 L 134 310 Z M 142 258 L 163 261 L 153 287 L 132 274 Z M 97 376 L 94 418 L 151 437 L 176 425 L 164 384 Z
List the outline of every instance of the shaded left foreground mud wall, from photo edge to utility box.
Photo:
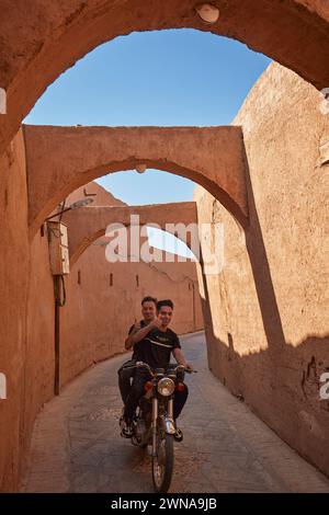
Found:
M 53 396 L 54 300 L 46 238 L 27 240 L 22 130 L 0 158 L 0 491 L 18 488 L 35 415 Z

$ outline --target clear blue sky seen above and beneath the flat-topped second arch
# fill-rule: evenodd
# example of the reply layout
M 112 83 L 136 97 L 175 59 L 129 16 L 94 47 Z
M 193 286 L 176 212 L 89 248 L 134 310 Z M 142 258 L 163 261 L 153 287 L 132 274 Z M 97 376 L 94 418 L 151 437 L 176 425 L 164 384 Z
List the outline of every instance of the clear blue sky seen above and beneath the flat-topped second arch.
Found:
M 48 87 L 27 124 L 228 125 L 270 59 L 193 30 L 133 33 L 99 46 Z M 194 184 L 162 171 L 98 182 L 131 205 L 191 201 Z

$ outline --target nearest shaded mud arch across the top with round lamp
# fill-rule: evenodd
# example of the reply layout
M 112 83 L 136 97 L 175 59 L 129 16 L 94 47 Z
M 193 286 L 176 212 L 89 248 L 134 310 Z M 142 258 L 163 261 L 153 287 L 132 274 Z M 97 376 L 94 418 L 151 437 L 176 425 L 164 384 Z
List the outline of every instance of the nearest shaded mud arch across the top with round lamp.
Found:
M 36 0 L 25 10 L 2 2 L 0 85 L 8 114 L 0 119 L 0 152 L 48 84 L 98 45 L 133 31 L 191 27 L 246 43 L 299 73 L 329 84 L 327 0 L 216 0 L 219 18 L 205 24 L 195 0 Z M 8 14 L 7 14 L 8 11 Z M 22 50 L 24 48 L 24 50 Z

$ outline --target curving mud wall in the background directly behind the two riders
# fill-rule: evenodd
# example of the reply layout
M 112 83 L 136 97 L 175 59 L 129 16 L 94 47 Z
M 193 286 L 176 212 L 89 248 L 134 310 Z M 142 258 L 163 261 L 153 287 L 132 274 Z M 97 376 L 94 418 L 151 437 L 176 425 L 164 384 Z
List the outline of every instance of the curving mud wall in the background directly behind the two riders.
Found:
M 93 263 L 99 266 L 92 266 Z M 198 295 L 195 265 L 191 263 L 186 267 L 186 264 L 170 263 L 161 273 L 158 263 L 112 264 L 105 261 L 104 247 L 91 245 L 66 281 L 68 305 L 61 309 L 63 384 L 93 363 L 125 351 L 128 328 L 140 320 L 140 300 L 146 295 L 173 300 L 172 329 L 179 334 L 201 330 L 197 298 L 193 322 L 192 284 Z M 184 267 L 184 275 L 172 276 L 174 266 Z

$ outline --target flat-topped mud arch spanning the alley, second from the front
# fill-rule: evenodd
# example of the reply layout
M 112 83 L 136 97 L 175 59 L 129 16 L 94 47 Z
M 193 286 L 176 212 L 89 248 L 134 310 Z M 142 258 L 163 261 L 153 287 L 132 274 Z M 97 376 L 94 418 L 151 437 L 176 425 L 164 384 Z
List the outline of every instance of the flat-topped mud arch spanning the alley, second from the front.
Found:
M 248 221 L 240 127 L 24 126 L 30 236 L 69 193 L 138 164 L 204 186 L 242 225 Z

